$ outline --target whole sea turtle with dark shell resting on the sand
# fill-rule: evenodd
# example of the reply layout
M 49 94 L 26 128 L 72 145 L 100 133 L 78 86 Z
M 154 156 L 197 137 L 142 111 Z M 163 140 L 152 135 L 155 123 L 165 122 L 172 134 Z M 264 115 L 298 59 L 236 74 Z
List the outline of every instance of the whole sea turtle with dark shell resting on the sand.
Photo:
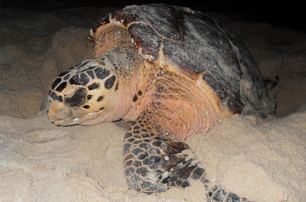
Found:
M 245 201 L 211 185 L 183 141 L 235 113 L 274 111 L 243 43 L 218 20 L 186 7 L 127 6 L 99 19 L 84 60 L 54 80 L 56 125 L 132 122 L 124 136 L 131 189 L 154 193 L 200 179 L 207 201 Z

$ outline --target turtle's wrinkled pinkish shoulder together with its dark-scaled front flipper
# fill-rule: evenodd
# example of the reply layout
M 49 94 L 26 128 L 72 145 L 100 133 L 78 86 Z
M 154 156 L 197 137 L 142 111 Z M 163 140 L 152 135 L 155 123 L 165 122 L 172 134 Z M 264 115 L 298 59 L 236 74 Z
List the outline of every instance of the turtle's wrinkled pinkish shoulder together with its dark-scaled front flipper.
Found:
M 150 90 L 141 96 L 135 94 L 128 112 L 137 114 L 144 105 L 142 99 L 148 103 L 151 98 L 124 136 L 123 161 L 129 187 L 151 194 L 167 187 L 185 188 L 190 179 L 199 179 L 207 189 L 208 202 L 246 202 L 246 198 L 211 184 L 183 142 L 187 136 L 206 132 L 217 123 L 209 101 L 199 89 L 191 87 L 191 81 L 162 68 L 148 75 L 144 78 Z M 153 82 L 153 78 L 158 79 Z

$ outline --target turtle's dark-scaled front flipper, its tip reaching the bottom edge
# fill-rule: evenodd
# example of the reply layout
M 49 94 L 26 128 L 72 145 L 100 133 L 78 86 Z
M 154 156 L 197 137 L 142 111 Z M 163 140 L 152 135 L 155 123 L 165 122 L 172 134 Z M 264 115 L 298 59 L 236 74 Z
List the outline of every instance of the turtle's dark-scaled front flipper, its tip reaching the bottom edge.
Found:
M 247 201 L 211 185 L 188 145 L 171 140 L 169 133 L 149 121 L 139 117 L 124 136 L 124 168 L 131 189 L 151 194 L 169 187 L 185 188 L 190 186 L 189 179 L 199 179 L 207 189 L 207 202 Z

